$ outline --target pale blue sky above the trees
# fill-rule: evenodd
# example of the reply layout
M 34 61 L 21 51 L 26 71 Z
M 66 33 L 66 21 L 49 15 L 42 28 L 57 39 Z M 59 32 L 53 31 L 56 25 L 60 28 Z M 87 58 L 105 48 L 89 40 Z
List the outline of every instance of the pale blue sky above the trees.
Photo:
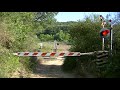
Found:
M 83 20 L 85 15 L 89 16 L 90 14 L 99 14 L 106 17 L 109 13 L 113 14 L 114 12 L 59 12 L 55 18 L 58 22 L 78 21 Z

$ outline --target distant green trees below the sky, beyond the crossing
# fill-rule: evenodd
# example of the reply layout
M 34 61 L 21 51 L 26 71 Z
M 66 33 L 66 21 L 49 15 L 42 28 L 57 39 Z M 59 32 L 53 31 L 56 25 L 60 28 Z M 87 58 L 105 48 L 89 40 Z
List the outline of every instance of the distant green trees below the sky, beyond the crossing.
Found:
M 74 23 L 76 23 L 76 22 L 74 22 Z M 40 38 L 44 38 L 44 35 L 48 36 L 48 34 L 49 34 L 50 36 L 53 37 L 52 40 L 69 42 L 69 38 L 70 38 L 69 28 L 70 28 L 71 24 L 73 24 L 73 22 L 65 22 L 65 23 L 57 22 L 57 23 L 48 25 L 48 26 L 46 26 L 46 28 L 43 31 L 38 32 L 37 36 Z M 46 38 L 44 38 L 43 41 L 45 41 L 45 40 L 46 40 Z

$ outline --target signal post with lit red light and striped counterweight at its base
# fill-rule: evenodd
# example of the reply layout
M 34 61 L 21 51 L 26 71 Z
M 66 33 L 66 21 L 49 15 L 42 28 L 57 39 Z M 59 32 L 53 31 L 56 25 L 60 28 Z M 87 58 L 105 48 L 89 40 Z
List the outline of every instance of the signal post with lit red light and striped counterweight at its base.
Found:
M 113 26 L 111 20 L 109 20 L 109 27 L 105 28 L 106 22 L 102 15 L 100 15 L 100 20 L 102 21 L 102 29 L 100 30 L 100 37 L 102 38 L 102 52 L 96 53 L 97 59 L 96 64 L 98 67 L 104 67 L 108 61 L 109 53 L 105 52 L 105 41 L 110 41 L 110 56 L 112 56 L 112 41 L 113 41 Z

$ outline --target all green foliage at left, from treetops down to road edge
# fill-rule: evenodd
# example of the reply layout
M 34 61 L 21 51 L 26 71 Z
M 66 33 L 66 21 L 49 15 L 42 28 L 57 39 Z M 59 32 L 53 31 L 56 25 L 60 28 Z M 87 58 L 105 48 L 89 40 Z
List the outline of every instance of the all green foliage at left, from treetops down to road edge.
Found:
M 18 58 L 12 53 L 32 52 L 39 48 L 36 33 L 42 32 L 46 26 L 54 22 L 54 15 L 57 13 L 44 13 L 39 17 L 41 19 L 39 22 L 35 20 L 37 14 L 36 12 L 0 12 L 0 54 L 2 54 L 0 77 L 11 77 L 17 68 L 31 71 L 36 67 L 36 62 L 31 62 L 29 57 Z M 49 40 L 50 37 L 48 35 L 47 39 Z M 19 63 L 21 59 L 24 63 Z

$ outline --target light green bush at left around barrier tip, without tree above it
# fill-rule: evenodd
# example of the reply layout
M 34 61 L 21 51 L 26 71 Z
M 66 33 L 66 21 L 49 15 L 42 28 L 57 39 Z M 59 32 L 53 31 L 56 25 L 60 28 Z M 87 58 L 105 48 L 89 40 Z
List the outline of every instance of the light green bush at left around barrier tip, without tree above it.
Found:
M 12 53 L 33 51 L 34 49 L 39 48 L 38 39 L 30 32 L 30 29 L 24 27 L 23 24 L 21 24 L 23 26 L 22 28 L 21 26 L 17 27 L 11 20 L 10 22 L 8 20 L 8 22 L 0 23 L 0 77 L 3 78 L 12 77 L 15 72 L 21 72 L 21 69 L 32 71 L 36 65 L 36 63 L 31 63 L 29 58 L 19 58 Z M 22 20 L 20 22 L 22 22 Z M 17 24 L 20 25 L 19 22 Z M 28 62 L 21 64 L 19 62 L 21 58 Z

